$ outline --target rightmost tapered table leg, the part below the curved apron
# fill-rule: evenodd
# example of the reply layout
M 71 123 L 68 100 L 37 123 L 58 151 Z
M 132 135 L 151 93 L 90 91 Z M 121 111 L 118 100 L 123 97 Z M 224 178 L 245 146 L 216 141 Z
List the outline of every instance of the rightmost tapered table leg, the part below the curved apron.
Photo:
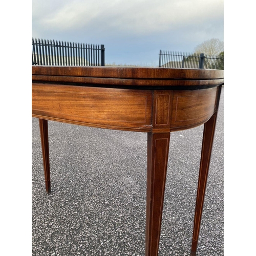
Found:
M 215 112 L 214 115 L 212 115 L 212 117 L 204 124 L 191 256 L 195 256 L 197 252 L 199 229 L 200 229 L 201 218 L 202 218 L 212 143 L 214 141 L 216 119 L 217 119 L 217 112 Z

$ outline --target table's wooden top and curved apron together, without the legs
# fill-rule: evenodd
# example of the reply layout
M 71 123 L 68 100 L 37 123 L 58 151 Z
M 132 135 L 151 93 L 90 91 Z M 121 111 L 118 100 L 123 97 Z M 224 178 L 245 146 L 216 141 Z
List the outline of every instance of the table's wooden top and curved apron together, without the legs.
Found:
M 108 129 L 177 131 L 210 118 L 220 84 L 221 70 L 35 66 L 32 115 Z

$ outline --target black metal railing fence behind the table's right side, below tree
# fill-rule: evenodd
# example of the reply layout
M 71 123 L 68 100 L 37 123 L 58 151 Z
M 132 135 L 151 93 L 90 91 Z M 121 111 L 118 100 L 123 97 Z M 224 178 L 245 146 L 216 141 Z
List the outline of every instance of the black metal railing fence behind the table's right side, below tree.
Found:
M 159 68 L 221 69 L 224 70 L 223 55 L 161 51 Z

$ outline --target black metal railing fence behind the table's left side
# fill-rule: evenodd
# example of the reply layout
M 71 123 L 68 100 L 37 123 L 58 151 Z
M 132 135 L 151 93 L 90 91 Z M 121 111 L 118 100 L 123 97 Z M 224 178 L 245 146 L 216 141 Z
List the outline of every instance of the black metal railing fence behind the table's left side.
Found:
M 104 45 L 32 38 L 32 65 L 105 66 Z

